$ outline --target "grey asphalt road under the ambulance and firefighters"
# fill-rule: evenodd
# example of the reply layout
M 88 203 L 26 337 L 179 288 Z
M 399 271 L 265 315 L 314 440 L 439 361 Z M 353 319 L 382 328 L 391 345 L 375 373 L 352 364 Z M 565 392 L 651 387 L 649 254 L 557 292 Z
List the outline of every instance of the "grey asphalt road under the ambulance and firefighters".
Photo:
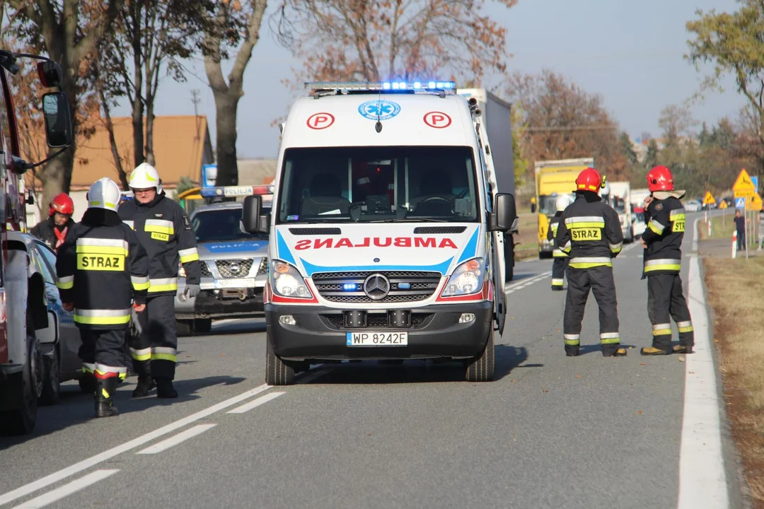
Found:
M 691 241 L 683 279 L 695 263 L 701 288 Z M 551 261 L 520 263 L 492 383 L 461 382 L 450 364 L 363 362 L 270 388 L 264 323 L 215 324 L 181 339 L 178 400 L 132 401 L 129 379 L 121 415 L 95 420 L 92 397 L 67 384 L 34 435 L 0 438 L 0 507 L 737 507 L 711 351 L 639 356 L 651 337 L 641 256 L 631 244 L 614 264 L 625 358 L 601 356 L 593 298 L 585 354 L 565 357 Z M 697 329 L 703 301 L 691 311 Z M 691 369 L 711 392 L 685 412 Z M 679 501 L 680 478 L 700 501 Z

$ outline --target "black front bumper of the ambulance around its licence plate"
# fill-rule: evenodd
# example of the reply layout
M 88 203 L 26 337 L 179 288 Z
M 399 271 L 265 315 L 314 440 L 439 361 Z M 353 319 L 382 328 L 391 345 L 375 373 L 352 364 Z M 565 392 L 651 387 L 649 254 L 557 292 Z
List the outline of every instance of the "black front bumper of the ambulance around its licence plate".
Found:
M 287 360 L 342 359 L 433 359 L 474 357 L 483 351 L 493 327 L 493 303 L 490 301 L 460 304 L 433 304 L 412 308 L 411 327 L 387 327 L 386 310 L 368 310 L 365 328 L 345 328 L 343 311 L 322 306 L 267 304 L 267 333 L 277 356 Z M 474 320 L 459 323 L 462 313 L 474 314 Z M 295 324 L 282 324 L 284 315 L 292 315 Z M 347 332 L 408 333 L 407 346 L 347 346 Z

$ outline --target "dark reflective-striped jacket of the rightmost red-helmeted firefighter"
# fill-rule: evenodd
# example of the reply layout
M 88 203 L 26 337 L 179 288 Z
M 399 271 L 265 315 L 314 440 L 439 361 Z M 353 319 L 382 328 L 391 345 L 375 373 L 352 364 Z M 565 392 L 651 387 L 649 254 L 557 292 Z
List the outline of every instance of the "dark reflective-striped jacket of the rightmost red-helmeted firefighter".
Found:
M 647 244 L 643 277 L 676 273 L 681 269 L 681 240 L 685 237 L 685 209 L 674 196 L 653 199 L 645 210 Z

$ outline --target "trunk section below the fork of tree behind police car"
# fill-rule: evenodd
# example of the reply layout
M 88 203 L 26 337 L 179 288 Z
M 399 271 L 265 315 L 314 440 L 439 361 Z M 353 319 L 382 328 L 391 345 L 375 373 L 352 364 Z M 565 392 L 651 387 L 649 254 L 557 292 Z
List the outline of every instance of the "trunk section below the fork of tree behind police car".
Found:
M 238 94 L 214 91 L 215 95 L 215 153 L 218 176 L 215 185 L 238 185 L 238 165 L 236 163 L 236 109 Z

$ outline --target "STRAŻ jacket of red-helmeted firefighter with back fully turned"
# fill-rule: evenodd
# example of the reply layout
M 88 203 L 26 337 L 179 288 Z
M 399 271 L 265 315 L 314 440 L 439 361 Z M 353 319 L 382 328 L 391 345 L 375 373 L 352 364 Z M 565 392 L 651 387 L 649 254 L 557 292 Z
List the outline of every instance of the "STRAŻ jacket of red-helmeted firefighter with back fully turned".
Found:
M 613 266 L 623 246 L 618 213 L 595 192 L 577 191 L 562 212 L 555 246 L 567 253 L 571 269 Z

